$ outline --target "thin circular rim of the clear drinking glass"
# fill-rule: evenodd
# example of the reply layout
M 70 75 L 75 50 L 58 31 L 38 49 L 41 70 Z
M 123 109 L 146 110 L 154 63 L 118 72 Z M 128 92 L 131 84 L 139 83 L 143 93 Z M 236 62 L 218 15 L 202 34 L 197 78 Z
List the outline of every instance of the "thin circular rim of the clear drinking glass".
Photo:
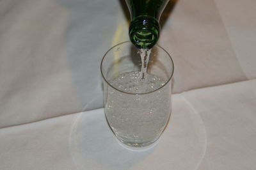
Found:
M 102 75 L 102 78 L 104 79 L 104 81 L 109 85 L 111 86 L 111 88 L 117 90 L 117 91 L 120 91 L 121 93 L 126 93 L 126 94 L 129 94 L 129 95 L 146 95 L 148 93 L 153 93 L 154 91 L 157 91 L 161 88 L 163 88 L 164 86 L 166 86 L 166 84 L 168 84 L 168 82 L 171 81 L 172 77 L 173 77 L 173 72 L 174 72 L 174 65 L 173 65 L 173 59 L 172 59 L 172 56 L 163 48 L 161 47 L 160 45 L 157 45 L 157 47 L 159 47 L 160 49 L 164 50 L 164 52 L 166 52 L 166 54 L 168 54 L 170 60 L 171 60 L 171 63 L 172 63 L 172 73 L 170 75 L 170 77 L 168 78 L 168 80 L 166 82 L 164 82 L 164 85 L 163 86 L 160 86 L 159 88 L 157 89 L 154 89 L 153 91 L 148 91 L 147 93 L 129 93 L 129 92 L 126 92 L 126 91 L 122 91 L 121 89 L 118 89 L 118 88 L 115 88 L 114 86 L 112 86 L 107 80 L 106 80 L 106 77 L 104 76 L 103 72 L 102 72 L 102 63 L 104 61 L 104 58 L 106 57 L 106 55 L 108 54 L 109 51 L 111 51 L 112 49 L 114 49 L 115 47 L 117 47 L 118 45 L 122 45 L 123 43 L 131 43 L 129 41 L 126 41 L 126 42 L 121 42 L 121 43 L 118 43 L 116 45 L 114 45 L 113 47 L 111 47 L 109 50 L 107 50 L 107 52 L 104 54 L 103 58 L 101 59 L 101 62 L 100 62 L 100 73 Z M 132 44 L 132 43 L 131 43 Z

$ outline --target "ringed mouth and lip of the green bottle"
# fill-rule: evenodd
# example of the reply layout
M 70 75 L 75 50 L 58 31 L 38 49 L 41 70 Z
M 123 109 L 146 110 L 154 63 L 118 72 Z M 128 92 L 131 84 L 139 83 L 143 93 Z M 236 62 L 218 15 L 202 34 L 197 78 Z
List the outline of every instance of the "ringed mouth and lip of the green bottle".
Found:
M 139 49 L 151 49 L 157 43 L 159 33 L 159 22 L 150 16 L 136 17 L 129 27 L 131 42 Z

